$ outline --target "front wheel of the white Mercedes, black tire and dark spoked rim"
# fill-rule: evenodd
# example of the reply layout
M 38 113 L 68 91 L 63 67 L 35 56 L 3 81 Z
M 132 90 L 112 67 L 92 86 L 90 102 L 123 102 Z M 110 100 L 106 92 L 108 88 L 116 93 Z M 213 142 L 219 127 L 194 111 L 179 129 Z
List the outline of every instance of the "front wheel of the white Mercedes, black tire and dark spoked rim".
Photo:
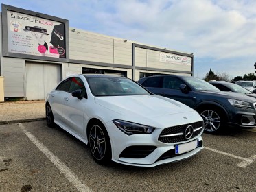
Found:
M 91 123 L 88 142 L 93 159 L 100 165 L 107 165 L 111 160 L 111 144 L 108 132 L 102 123 Z

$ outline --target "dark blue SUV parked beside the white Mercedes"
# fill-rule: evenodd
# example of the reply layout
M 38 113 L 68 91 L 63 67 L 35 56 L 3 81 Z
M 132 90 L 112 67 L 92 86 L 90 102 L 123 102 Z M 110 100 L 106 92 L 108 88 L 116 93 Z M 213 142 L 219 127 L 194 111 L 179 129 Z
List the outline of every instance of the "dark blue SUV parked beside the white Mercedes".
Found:
M 204 119 L 205 132 L 219 132 L 226 125 L 256 126 L 256 99 L 253 97 L 220 91 L 208 82 L 190 76 L 157 75 L 141 78 L 138 82 L 152 93 L 197 110 Z

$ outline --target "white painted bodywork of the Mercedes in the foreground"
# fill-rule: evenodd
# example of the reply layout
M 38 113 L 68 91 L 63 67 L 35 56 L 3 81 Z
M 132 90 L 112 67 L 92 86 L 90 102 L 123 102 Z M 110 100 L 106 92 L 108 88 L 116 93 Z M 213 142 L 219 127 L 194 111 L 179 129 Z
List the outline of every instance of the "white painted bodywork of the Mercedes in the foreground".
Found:
M 91 119 L 98 119 L 106 128 L 110 138 L 111 160 L 117 163 L 154 167 L 189 158 L 203 148 L 201 137 L 203 128 L 202 123 L 200 123 L 202 117 L 195 110 L 178 101 L 158 95 L 97 97 L 93 95 L 86 79 L 86 77 L 93 76 L 102 77 L 103 75 L 73 75 L 68 77 L 78 77 L 84 82 L 87 98 L 78 99 L 78 97 L 73 97 L 71 93 L 54 89 L 47 95 L 46 99 L 46 106 L 51 106 L 54 123 L 80 141 L 89 144 L 87 125 Z M 117 128 L 117 125 L 113 123 L 115 119 L 148 125 L 154 128 L 154 131 L 151 134 L 128 135 Z M 185 132 L 191 128 L 189 125 L 195 125 L 195 122 L 199 122 L 199 126 L 193 127 L 192 134 L 197 132 L 197 135 L 191 136 L 191 139 L 175 143 L 159 141 L 159 136 L 165 128 L 172 129 L 171 127 L 182 125 L 183 131 L 176 134 L 184 137 Z M 162 156 L 170 150 L 173 152 L 177 148 L 175 148 L 176 145 L 179 145 L 179 149 L 184 150 L 184 153 L 181 151 L 181 154 L 174 154 L 170 158 L 167 155 Z M 143 158 L 131 158 L 124 153 L 124 149 L 131 146 L 135 148 L 139 146 L 139 149 L 141 146 L 153 146 L 155 149 Z M 122 152 L 124 155 L 120 155 Z M 162 158 L 160 158 L 161 156 Z

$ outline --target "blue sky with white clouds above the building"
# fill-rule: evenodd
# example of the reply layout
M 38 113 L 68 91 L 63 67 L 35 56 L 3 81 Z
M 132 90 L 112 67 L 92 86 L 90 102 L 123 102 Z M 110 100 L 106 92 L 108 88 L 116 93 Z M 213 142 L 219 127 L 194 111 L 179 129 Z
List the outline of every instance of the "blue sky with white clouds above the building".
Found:
M 69 20 L 69 27 L 194 54 L 194 75 L 254 72 L 256 1 L 1 0 Z

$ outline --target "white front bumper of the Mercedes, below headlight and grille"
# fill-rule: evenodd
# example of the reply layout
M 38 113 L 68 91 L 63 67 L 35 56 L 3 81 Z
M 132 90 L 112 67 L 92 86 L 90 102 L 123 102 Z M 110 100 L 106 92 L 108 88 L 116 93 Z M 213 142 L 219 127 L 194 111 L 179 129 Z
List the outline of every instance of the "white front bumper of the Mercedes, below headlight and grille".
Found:
M 165 163 L 172 163 L 194 156 L 201 149 L 202 132 L 187 141 L 177 143 L 163 143 L 158 140 L 163 129 L 156 129 L 152 134 L 126 135 L 112 122 L 107 125 L 112 147 L 112 160 L 124 165 L 139 167 L 154 167 Z M 175 145 L 197 141 L 196 149 L 183 154 L 175 154 Z

